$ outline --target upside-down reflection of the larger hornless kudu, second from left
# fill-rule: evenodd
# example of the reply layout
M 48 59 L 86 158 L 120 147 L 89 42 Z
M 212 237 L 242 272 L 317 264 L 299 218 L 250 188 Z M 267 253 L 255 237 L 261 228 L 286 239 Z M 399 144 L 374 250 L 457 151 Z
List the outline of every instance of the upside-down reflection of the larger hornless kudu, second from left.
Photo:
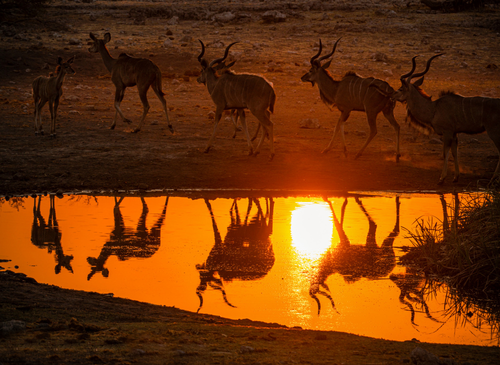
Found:
M 168 196 L 165 199 L 160 216 L 150 230 L 146 228 L 146 217 L 149 209 L 143 197 L 140 198 L 142 212 L 137 222 L 137 227 L 130 228 L 125 226 L 120 211 L 120 203 L 123 198 L 122 196 L 118 200 L 116 196 L 114 197 L 114 229 L 109 235 L 109 240 L 101 248 L 97 258 L 87 257 L 87 262 L 92 266 L 90 273 L 87 275 L 87 280 L 90 280 L 96 272 L 101 272 L 104 277 L 109 275 L 109 270 L 104 267 L 104 264 L 111 255 L 117 256 L 121 261 L 131 257 L 147 258 L 151 257 L 160 246 L 161 226 L 165 220 Z

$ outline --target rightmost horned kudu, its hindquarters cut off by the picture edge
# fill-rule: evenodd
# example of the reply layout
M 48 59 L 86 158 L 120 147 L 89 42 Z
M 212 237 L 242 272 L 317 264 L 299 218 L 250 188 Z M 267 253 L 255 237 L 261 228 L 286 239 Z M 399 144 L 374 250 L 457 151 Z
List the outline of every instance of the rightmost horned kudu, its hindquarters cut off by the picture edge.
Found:
M 464 97 L 452 91 L 441 91 L 436 100 L 431 99 L 421 88 L 425 73 L 430 62 L 443 53 L 435 54 L 427 60 L 425 70 L 413 73 L 416 67 L 412 58 L 411 71 L 400 76 L 401 87 L 390 94 L 391 99 L 406 102 L 406 116 L 410 124 L 429 134 L 433 132 L 442 135 L 442 154 L 444 164 L 438 184 L 446 177 L 448 154 L 451 154 L 455 164 L 453 182 L 458 181 L 458 139 L 457 133 L 476 134 L 486 131 L 500 152 L 500 98 L 472 96 Z M 420 77 L 413 83 L 412 78 Z M 376 87 L 376 86 L 375 86 Z M 382 92 L 382 91 L 381 91 Z M 491 181 L 500 178 L 500 156 Z

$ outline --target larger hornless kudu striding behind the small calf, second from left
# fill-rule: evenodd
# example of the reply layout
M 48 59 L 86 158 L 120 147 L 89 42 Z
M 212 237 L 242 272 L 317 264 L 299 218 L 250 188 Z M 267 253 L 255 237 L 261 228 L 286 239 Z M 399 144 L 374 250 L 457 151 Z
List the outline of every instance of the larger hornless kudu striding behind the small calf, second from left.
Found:
M 166 110 L 166 101 L 164 98 L 165 93 L 161 91 L 161 71 L 158 66 L 150 59 L 131 57 L 126 53 L 121 53 L 118 58 L 113 58 L 106 48 L 106 43 L 111 39 L 111 34 L 109 32 L 104 34 L 103 39 L 97 38 L 92 33 L 89 35 L 93 44 L 88 48 L 88 51 L 91 53 L 100 53 L 102 60 L 104 61 L 104 65 L 111 73 L 111 81 L 113 81 L 116 88 L 114 92 L 114 108 L 116 111 L 110 128 L 114 129 L 116 126 L 116 118 L 118 117 L 118 114 L 120 114 L 121 119 L 124 122 L 132 122 L 130 119 L 125 118 L 120 109 L 120 104 L 121 100 L 123 100 L 123 96 L 125 95 L 125 89 L 129 86 L 137 85 L 137 91 L 139 92 L 139 98 L 142 102 L 143 110 L 139 120 L 139 125 L 137 125 L 133 132 L 136 133 L 140 130 L 147 111 L 149 110 L 147 90 L 149 89 L 149 86 L 151 86 L 163 106 L 166 122 L 168 123 L 168 129 L 170 129 L 170 132 L 173 134 L 173 128 L 170 124 L 170 120 L 168 119 L 168 112 Z

